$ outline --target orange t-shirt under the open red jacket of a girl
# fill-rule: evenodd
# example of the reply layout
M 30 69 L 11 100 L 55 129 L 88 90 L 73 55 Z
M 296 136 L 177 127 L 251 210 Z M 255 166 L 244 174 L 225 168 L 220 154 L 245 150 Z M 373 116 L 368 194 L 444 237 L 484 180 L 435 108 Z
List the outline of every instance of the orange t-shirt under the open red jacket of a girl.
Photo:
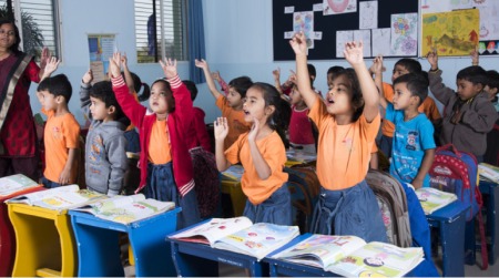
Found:
M 161 165 L 172 161 L 167 121 L 154 122 L 149 141 L 149 161 Z

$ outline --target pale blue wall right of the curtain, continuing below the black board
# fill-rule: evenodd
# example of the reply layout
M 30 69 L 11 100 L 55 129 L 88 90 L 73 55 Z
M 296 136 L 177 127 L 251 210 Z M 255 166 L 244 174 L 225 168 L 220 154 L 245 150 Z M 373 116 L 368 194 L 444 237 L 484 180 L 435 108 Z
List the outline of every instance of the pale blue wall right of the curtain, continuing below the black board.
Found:
M 240 75 L 248 75 L 254 81 L 273 83 L 272 71 L 281 68 L 282 81 L 295 68 L 294 61 L 273 61 L 272 1 L 269 0 L 203 0 L 206 37 L 206 60 L 212 70 L 218 70 L 228 82 Z M 387 71 L 384 80 L 391 82 L 391 70 L 396 59 L 385 59 Z M 425 70 L 426 60 L 420 59 Z M 315 86 L 327 91 L 326 72 L 332 65 L 348 66 L 345 61 L 312 61 L 317 69 Z M 371 61 L 368 60 L 370 65 Z M 486 70 L 499 70 L 499 58 L 481 56 L 480 65 Z M 456 87 L 457 72 L 471 65 L 469 58 L 441 58 L 444 82 Z M 441 105 L 440 105 L 441 107 Z M 213 120 L 218 113 L 207 113 Z

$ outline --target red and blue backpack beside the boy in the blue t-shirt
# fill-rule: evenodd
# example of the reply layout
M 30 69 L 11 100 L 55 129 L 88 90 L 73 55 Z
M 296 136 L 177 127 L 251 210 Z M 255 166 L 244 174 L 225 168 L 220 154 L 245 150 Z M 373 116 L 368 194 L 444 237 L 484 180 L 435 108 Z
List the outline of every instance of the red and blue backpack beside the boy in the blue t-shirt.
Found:
M 481 206 L 483 200 L 478 187 L 478 163 L 472 154 L 459 152 L 452 144 L 437 148 L 434 164 L 429 169 L 430 186 L 442 192 L 450 192 L 457 198 L 470 205 L 470 212 L 466 220 L 478 218 L 481 238 L 482 269 L 488 267 L 487 246 L 485 238 L 483 218 Z M 467 235 L 467 237 L 470 235 Z M 475 238 L 475 234 L 472 235 Z

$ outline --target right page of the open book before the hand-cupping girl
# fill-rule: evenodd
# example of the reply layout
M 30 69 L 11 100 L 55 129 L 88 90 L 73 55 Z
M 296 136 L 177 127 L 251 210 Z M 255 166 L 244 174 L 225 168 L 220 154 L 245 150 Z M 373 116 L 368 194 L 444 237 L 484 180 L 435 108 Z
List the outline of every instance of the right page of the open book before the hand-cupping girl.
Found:
M 259 260 L 298 235 L 297 226 L 258 223 L 216 240 L 213 247 L 246 254 Z

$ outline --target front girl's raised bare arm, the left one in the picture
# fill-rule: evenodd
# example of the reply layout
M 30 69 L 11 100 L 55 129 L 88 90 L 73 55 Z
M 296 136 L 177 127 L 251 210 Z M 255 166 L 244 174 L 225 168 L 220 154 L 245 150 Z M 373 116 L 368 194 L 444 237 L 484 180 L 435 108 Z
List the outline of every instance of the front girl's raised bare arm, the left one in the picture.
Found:
M 296 33 L 289 41 L 296 54 L 296 81 L 298 91 L 308 109 L 312 109 L 317 101 L 317 94 L 312 89 L 310 78 L 307 68 L 307 43 L 303 32 Z

